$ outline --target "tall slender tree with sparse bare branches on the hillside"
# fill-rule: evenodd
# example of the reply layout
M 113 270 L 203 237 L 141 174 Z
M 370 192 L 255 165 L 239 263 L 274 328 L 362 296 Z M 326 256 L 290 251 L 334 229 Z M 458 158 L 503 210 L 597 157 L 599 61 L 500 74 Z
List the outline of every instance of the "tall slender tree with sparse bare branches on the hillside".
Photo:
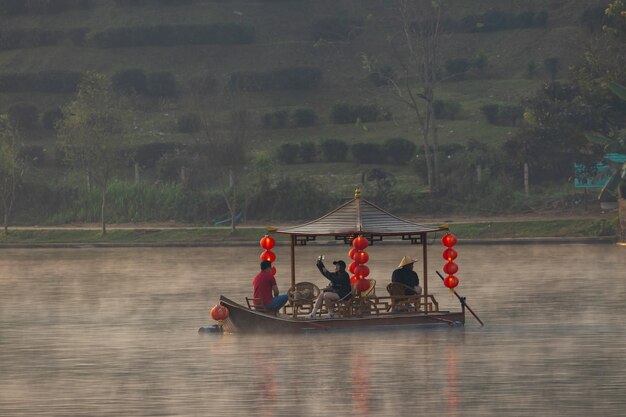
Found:
M 437 129 L 434 112 L 435 89 L 440 72 L 440 38 L 443 5 L 441 0 L 398 0 L 397 27 L 390 38 L 391 51 L 402 68 L 402 76 L 386 80 L 394 97 L 408 106 L 417 120 L 424 148 L 428 186 L 439 190 Z M 363 64 L 370 72 L 376 68 L 367 56 Z

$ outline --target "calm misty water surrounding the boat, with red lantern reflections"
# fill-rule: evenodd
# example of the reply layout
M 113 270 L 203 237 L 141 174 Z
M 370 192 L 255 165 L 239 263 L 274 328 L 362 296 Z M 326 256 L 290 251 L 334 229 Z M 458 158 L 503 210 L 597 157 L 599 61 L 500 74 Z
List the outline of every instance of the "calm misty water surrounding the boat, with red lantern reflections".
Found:
M 626 413 L 626 248 L 457 248 L 458 291 L 485 327 L 468 314 L 465 328 L 280 337 L 197 333 L 219 294 L 250 294 L 258 248 L 2 250 L 0 415 Z M 315 258 L 346 251 L 297 248 L 298 280 L 325 285 Z M 286 290 L 288 249 L 276 252 Z M 419 255 L 368 252 L 379 293 Z M 429 288 L 458 308 L 438 278 Z

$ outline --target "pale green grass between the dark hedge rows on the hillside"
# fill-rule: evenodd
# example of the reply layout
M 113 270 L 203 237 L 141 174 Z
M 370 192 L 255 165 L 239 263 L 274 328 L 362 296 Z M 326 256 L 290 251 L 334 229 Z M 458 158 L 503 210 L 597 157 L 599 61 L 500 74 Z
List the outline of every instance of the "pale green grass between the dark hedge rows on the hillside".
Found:
M 5 2 L 9 3 L 9 2 Z M 35 2 L 36 3 L 36 2 Z M 158 0 L 144 0 L 141 6 L 124 6 L 129 1 L 69 1 L 68 10 L 56 13 L 36 12 L 0 17 L 1 34 L 16 31 L 61 33 L 60 40 L 49 46 L 0 49 L 0 76 L 9 73 L 41 71 L 103 72 L 113 76 L 128 69 L 146 73 L 169 72 L 176 80 L 178 94 L 173 97 L 142 97 L 138 101 L 138 132 L 145 143 L 192 142 L 201 135 L 181 133 L 177 120 L 188 112 L 206 112 L 223 117 L 234 100 L 254 116 L 253 150 L 275 150 L 280 144 L 338 138 L 348 143 L 382 142 L 391 137 L 416 140 L 417 128 L 411 113 L 394 100 L 386 87 L 376 87 L 368 80 L 362 57 L 366 54 L 380 65 L 397 67 L 390 52 L 388 35 L 398 27 L 394 1 L 380 0 L 193 0 L 180 5 L 160 5 Z M 175 3 L 175 2 L 170 2 Z M 519 104 L 549 78 L 543 68 L 547 58 L 558 58 L 559 76 L 581 59 L 587 31 L 581 24 L 585 10 L 605 5 L 604 0 L 478 0 L 448 2 L 446 19 L 461 22 L 470 15 L 496 11 L 511 15 L 523 12 L 547 15 L 545 26 L 516 28 L 484 33 L 454 31 L 442 41 L 442 63 L 450 59 L 471 59 L 477 54 L 486 58 L 479 72 L 442 82 L 437 97 L 457 102 L 462 110 L 455 120 L 439 120 L 442 144 L 465 143 L 469 139 L 498 145 L 515 132 L 515 127 L 489 124 L 481 113 L 486 104 Z M 2 2 L 0 2 L 2 4 Z M 72 6 L 73 5 L 73 6 Z M 74 7 L 75 6 L 75 7 Z M 319 40 L 313 36 L 324 19 L 344 19 L 354 23 L 354 33 L 340 40 Z M 254 28 L 254 42 L 237 45 L 176 45 L 138 47 L 99 47 L 97 35 L 120 27 L 157 25 L 209 25 L 234 23 Z M 0 42 L 1 44 L 2 42 Z M 535 63 L 531 77 L 528 66 Z M 321 70 L 322 81 L 313 89 L 261 91 L 233 94 L 228 83 L 233 73 L 270 72 L 280 68 L 309 66 Z M 200 101 L 195 94 L 197 80 L 213 77 L 214 91 Z M 28 91 L 0 92 L 0 112 L 16 104 L 35 105 L 40 115 L 72 98 L 72 94 Z M 374 104 L 388 109 L 389 120 L 364 125 L 334 124 L 332 107 L 340 102 Z M 200 104 L 199 104 L 200 103 Z M 318 116 L 311 127 L 288 126 L 269 129 L 263 124 L 268 112 L 310 108 Z M 62 171 L 51 162 L 54 158 L 54 132 L 41 126 L 25 133 L 27 143 L 45 148 L 46 164 L 29 172 L 32 178 L 55 181 Z M 419 142 L 418 142 L 419 143 Z M 349 161 L 343 164 L 316 163 L 285 165 L 282 173 L 317 176 L 332 181 L 336 189 L 352 189 L 367 167 Z M 400 182 L 412 179 L 407 166 L 386 165 Z M 329 179 L 330 178 L 330 179 Z

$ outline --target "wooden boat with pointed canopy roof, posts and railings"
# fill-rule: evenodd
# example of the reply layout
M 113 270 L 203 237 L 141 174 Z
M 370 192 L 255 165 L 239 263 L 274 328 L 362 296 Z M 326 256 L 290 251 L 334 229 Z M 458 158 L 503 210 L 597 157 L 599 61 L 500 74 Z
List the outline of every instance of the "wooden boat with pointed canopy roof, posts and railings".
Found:
M 466 309 L 478 319 L 467 306 L 465 298 L 456 292 L 455 295 L 461 304 L 458 311 L 440 310 L 439 303 L 429 292 L 427 235 L 447 233 L 448 227 L 424 226 L 403 220 L 361 199 L 358 189 L 354 199 L 317 220 L 299 226 L 271 229 L 268 232 L 289 235 L 291 238 L 291 288 L 288 304 L 278 314 L 272 314 L 257 309 L 250 299 L 246 299 L 247 305 L 243 305 L 221 296 L 220 305 L 228 309 L 228 318 L 219 323 L 222 327 L 206 327 L 200 331 L 301 333 L 357 328 L 462 326 L 465 324 Z M 320 236 L 331 237 L 346 244 L 351 244 L 357 236 L 363 236 L 370 245 L 392 237 L 421 245 L 423 270 L 419 275 L 423 287 L 422 294 L 406 296 L 404 293 L 392 291 L 389 287 L 388 296 L 353 291 L 350 299 L 338 303 L 338 311 L 333 318 L 308 318 L 315 298 L 299 299 L 298 288 L 302 284 L 307 284 L 309 288 L 315 286 L 296 282 L 295 252 L 296 247 L 304 246 Z M 443 280 L 443 276 L 439 272 L 437 274 Z M 483 324 L 480 319 L 478 321 Z

